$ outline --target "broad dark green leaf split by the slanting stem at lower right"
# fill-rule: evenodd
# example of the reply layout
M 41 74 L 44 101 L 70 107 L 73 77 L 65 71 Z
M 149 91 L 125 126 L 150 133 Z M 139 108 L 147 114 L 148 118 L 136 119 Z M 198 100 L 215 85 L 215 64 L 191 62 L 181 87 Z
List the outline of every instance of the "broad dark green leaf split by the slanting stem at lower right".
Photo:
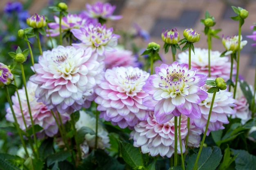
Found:
M 187 164 L 186 170 L 192 170 L 195 164 L 197 154 L 193 154 L 189 158 L 189 162 Z M 222 159 L 222 154 L 220 148 L 213 146 L 202 148 L 201 155 L 198 160 L 198 169 L 197 170 L 216 170 L 217 166 L 220 164 L 220 160 Z

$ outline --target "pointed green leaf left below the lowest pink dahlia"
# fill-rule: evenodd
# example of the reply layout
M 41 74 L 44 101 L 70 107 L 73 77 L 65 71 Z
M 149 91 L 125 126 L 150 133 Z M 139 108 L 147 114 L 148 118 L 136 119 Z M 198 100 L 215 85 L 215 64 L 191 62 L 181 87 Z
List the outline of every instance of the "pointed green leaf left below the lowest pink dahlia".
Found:
M 132 168 L 136 166 L 143 166 L 143 160 L 138 148 L 135 148 L 132 144 L 119 141 L 120 142 L 120 152 L 122 157 L 128 165 Z

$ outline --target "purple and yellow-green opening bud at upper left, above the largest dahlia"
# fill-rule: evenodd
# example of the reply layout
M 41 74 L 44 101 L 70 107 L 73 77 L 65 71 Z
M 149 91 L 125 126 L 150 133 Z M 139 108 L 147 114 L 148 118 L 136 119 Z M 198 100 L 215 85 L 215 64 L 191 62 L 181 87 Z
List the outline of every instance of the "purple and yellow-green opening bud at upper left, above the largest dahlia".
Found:
M 27 18 L 27 24 L 32 28 L 42 28 L 46 26 L 45 16 L 44 15 L 38 15 L 35 13 L 35 15 L 32 15 L 30 18 Z

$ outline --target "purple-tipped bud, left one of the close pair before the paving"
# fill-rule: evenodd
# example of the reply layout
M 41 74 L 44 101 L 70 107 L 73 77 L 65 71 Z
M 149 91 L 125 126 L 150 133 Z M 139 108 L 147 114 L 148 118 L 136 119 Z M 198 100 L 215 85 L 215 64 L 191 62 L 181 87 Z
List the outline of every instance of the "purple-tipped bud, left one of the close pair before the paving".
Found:
M 177 29 L 166 30 L 162 32 L 162 40 L 167 44 L 177 44 L 180 40 L 180 34 L 177 32 Z

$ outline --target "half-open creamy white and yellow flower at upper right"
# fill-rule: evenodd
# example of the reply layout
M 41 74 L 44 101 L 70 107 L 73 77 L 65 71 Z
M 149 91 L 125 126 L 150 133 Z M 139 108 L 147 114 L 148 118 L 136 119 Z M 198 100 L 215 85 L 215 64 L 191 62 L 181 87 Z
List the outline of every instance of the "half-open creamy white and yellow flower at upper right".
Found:
M 240 37 L 240 50 L 243 49 L 243 46 L 247 44 L 247 40 L 242 41 L 243 37 L 241 35 Z M 232 37 L 227 36 L 224 38 L 224 35 L 222 35 L 222 44 L 224 45 L 227 52 L 225 55 L 236 53 L 236 51 L 239 50 L 238 47 L 238 35 L 234 35 Z

